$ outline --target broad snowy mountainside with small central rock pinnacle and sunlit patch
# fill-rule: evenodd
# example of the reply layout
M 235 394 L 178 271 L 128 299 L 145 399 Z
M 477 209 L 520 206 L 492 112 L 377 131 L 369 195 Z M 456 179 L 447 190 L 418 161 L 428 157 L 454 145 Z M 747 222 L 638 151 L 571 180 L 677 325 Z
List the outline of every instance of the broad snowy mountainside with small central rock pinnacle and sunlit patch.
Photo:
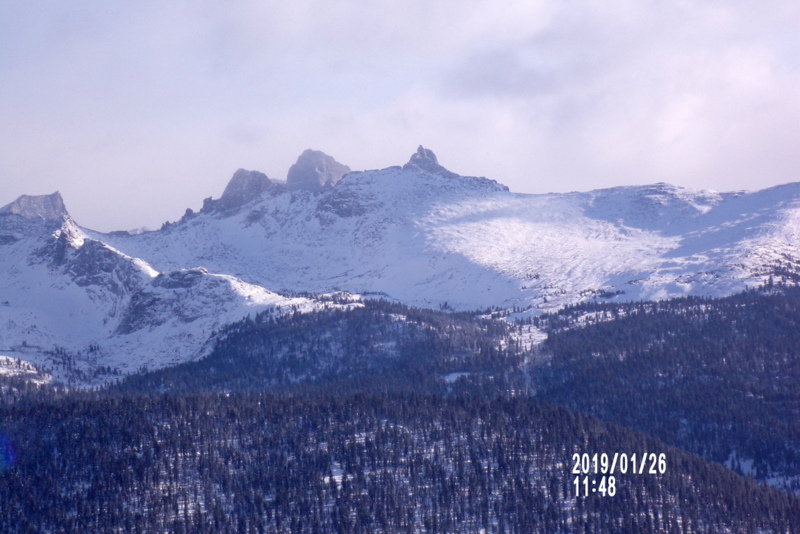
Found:
M 458 176 L 420 147 L 403 167 L 318 192 L 280 184 L 235 211 L 97 235 L 159 270 L 204 266 L 277 291 L 377 293 L 427 307 L 531 310 L 590 298 L 724 295 L 800 258 L 800 184 L 667 184 L 527 195 Z

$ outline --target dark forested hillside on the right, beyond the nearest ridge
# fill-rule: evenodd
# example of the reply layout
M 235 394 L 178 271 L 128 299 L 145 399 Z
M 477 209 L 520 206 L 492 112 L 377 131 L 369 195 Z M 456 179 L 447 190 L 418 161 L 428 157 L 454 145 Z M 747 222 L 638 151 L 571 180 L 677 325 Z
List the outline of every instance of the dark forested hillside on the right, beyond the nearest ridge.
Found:
M 539 398 L 800 490 L 797 288 L 578 306 L 540 324 Z

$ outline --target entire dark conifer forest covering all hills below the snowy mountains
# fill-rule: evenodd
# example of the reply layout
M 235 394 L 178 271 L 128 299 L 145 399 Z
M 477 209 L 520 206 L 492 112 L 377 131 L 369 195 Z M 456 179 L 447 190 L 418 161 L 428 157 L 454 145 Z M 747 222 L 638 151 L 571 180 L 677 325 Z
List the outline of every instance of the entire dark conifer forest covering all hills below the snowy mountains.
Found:
M 95 391 L 4 379 L 0 532 L 795 532 L 798 297 L 371 301 Z M 604 452 L 666 469 L 576 490 L 573 454 Z

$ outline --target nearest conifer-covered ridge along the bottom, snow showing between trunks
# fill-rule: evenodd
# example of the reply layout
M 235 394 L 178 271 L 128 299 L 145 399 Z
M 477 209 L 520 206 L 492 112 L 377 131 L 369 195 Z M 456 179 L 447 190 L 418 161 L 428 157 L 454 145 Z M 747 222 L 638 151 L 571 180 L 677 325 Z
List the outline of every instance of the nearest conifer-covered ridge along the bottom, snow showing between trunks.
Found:
M 72 395 L 0 408 L 2 532 L 791 532 L 800 500 L 532 400 Z M 572 454 L 663 475 L 575 497 Z

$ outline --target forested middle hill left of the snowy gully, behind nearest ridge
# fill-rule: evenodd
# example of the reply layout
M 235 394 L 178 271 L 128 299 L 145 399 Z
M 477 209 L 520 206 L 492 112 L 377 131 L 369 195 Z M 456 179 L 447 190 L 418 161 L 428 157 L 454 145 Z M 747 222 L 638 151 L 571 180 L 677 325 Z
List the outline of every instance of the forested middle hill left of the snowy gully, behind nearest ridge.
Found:
M 268 311 L 220 331 L 206 358 L 132 376 L 120 388 L 445 393 L 469 385 L 473 393 L 499 395 L 524 356 L 501 347 L 511 331 L 474 314 L 385 301 L 290 316 Z M 448 376 L 462 378 L 451 385 Z

